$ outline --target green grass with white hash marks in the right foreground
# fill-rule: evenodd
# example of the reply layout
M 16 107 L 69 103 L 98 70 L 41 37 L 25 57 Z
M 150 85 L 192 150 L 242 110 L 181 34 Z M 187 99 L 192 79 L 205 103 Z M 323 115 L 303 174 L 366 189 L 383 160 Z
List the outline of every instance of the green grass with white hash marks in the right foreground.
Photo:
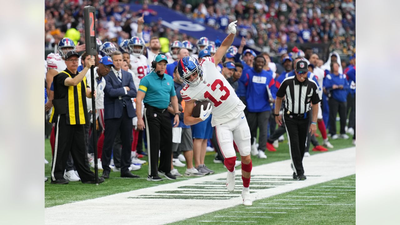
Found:
M 343 188 L 346 186 L 355 187 L 355 178 L 356 175 L 351 175 L 260 199 L 251 207 L 238 205 L 170 224 L 355 224 L 356 189 L 342 191 L 349 190 Z M 319 189 L 327 191 L 315 191 Z

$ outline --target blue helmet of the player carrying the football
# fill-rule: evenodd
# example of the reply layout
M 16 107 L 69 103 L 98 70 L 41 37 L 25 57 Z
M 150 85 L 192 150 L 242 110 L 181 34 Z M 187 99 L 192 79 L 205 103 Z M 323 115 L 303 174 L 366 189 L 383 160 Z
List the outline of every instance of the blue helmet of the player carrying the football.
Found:
M 197 72 L 197 77 L 190 81 L 190 76 Z M 196 58 L 185 56 L 178 61 L 178 73 L 185 84 L 189 86 L 197 86 L 203 78 L 203 70 Z

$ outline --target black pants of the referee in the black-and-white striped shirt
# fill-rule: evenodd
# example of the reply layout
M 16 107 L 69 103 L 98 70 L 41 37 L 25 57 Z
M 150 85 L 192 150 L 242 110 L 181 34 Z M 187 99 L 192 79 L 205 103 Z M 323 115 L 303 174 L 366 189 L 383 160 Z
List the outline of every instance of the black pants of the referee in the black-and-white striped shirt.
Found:
M 289 138 L 290 158 L 292 159 L 290 166 L 296 175 L 303 175 L 303 157 L 306 149 L 309 119 L 308 117 L 298 118 L 285 113 L 283 120 Z

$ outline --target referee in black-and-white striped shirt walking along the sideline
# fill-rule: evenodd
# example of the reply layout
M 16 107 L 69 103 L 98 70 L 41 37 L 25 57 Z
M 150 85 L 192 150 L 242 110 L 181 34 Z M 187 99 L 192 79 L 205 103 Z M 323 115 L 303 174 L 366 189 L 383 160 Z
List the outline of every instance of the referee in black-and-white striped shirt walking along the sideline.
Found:
M 307 77 L 308 64 L 304 60 L 296 62 L 296 76 L 290 76 L 282 81 L 275 101 L 275 120 L 279 125 L 282 124 L 282 116 L 279 109 L 282 99 L 286 97 L 284 105 L 283 121 L 289 138 L 290 157 L 292 158 L 293 178 L 299 181 L 305 180 L 303 169 L 303 156 L 306 149 L 307 132 L 313 135 L 317 129 L 318 86 Z M 312 122 L 309 125 L 309 113 L 312 104 Z M 310 127 L 310 128 L 308 128 Z

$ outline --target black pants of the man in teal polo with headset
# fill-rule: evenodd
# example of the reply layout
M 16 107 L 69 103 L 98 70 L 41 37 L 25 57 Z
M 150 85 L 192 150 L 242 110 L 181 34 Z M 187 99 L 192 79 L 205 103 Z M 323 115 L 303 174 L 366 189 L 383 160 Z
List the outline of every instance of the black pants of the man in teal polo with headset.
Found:
M 144 107 L 144 125 L 146 126 L 148 149 L 148 175 L 158 176 L 158 171 L 171 172 L 172 156 L 172 123 L 167 110 L 151 106 Z M 160 165 L 158 166 L 158 151 L 160 151 Z

